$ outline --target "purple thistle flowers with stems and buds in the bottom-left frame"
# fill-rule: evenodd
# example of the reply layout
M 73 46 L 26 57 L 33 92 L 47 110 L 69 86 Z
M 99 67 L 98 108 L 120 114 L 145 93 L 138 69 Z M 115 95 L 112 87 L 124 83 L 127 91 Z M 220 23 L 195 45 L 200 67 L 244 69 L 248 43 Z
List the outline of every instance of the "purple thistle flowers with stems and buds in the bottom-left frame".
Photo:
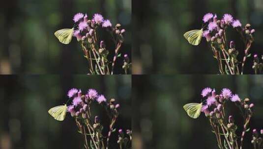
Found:
M 115 123 L 120 105 L 115 103 L 115 99 L 107 101 L 104 95 L 99 95 L 94 89 L 89 89 L 87 94 L 82 94 L 81 90 L 73 88 L 69 90 L 68 97 L 73 100 L 71 105 L 67 106 L 67 112 L 75 119 L 78 132 L 83 135 L 85 149 L 109 149 L 111 135 L 116 131 Z M 102 132 L 104 126 L 100 123 L 99 117 L 91 113 L 90 107 L 93 104 L 98 104 L 106 110 L 110 119 L 107 135 Z M 123 132 L 119 129 L 118 133 L 119 149 L 131 149 L 132 131 Z

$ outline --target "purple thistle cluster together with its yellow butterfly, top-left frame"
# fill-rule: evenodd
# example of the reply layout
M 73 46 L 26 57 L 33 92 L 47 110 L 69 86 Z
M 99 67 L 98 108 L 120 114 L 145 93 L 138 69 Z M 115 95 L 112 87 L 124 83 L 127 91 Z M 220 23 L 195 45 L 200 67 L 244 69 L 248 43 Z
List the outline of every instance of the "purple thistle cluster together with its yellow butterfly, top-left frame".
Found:
M 120 50 L 124 41 L 123 34 L 125 29 L 120 24 L 113 26 L 111 21 L 104 19 L 101 14 L 94 14 L 93 18 L 89 19 L 87 14 L 77 13 L 73 21 L 75 24 L 72 29 L 68 29 L 66 32 L 63 29 L 55 32 L 59 41 L 68 44 L 72 36 L 76 37 L 84 52 L 84 57 L 88 60 L 88 74 L 115 74 L 117 58 L 122 57 Z M 102 31 L 107 31 L 111 34 L 115 45 L 114 50 L 107 48 L 104 40 L 99 37 L 99 32 Z M 110 54 L 114 55 L 114 57 L 110 57 Z M 123 56 L 123 69 L 127 74 L 130 71 L 131 63 L 127 60 L 128 55 L 125 55 Z

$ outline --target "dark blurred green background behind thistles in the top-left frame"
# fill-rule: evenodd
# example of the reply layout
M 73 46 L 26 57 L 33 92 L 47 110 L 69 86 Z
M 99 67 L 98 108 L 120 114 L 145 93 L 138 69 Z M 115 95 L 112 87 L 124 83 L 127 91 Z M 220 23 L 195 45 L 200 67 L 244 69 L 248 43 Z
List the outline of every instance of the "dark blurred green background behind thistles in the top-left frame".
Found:
M 122 53 L 131 56 L 131 0 L 7 0 L 0 6 L 0 74 L 87 74 L 76 38 L 63 45 L 54 35 L 71 28 L 78 12 L 89 18 L 101 13 L 113 25 L 120 23 L 126 29 Z M 101 37 L 114 50 L 106 31 Z

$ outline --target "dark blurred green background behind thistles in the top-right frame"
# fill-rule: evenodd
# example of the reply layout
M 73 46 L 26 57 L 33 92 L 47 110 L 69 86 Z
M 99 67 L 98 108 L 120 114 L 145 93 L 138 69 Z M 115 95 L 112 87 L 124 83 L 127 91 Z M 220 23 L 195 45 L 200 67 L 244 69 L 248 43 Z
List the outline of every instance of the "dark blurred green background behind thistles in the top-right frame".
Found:
M 205 39 L 192 46 L 183 37 L 201 29 L 208 12 L 218 18 L 230 13 L 243 25 L 250 23 L 256 29 L 252 53 L 263 54 L 263 0 L 133 0 L 133 74 L 218 74 Z M 238 34 L 230 30 L 228 35 L 242 53 Z M 251 63 L 245 72 L 253 74 Z

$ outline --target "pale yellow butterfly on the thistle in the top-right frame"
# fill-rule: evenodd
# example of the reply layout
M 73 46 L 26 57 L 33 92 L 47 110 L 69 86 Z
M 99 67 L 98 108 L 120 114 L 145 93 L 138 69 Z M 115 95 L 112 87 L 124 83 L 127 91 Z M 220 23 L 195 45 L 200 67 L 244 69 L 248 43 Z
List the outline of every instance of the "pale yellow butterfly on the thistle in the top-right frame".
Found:
M 203 28 L 200 30 L 195 29 L 195 30 L 187 31 L 186 33 L 184 33 L 183 36 L 186 40 L 188 40 L 190 44 L 197 46 L 201 42 L 202 35 L 203 35 Z

